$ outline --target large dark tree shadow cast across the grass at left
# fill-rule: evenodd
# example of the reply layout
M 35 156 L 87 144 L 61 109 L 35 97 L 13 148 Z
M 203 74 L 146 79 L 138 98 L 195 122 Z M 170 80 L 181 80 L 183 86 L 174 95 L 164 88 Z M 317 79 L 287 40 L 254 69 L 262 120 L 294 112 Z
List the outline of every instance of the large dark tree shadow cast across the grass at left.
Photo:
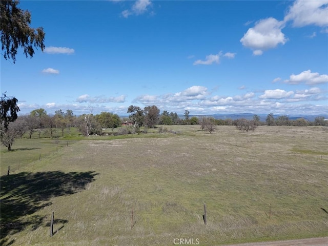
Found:
M 49 226 L 45 217 L 32 215 L 51 205 L 51 198 L 83 191 L 94 181 L 94 172 L 22 172 L 1 177 L 1 245 L 10 245 L 8 235 L 20 232 L 30 226 L 36 230 Z M 29 216 L 32 215 L 32 216 Z M 56 219 L 65 224 L 68 220 Z M 61 227 L 62 228 L 62 227 Z M 60 229 L 61 229 L 60 228 Z M 60 230 L 58 229 L 58 230 Z

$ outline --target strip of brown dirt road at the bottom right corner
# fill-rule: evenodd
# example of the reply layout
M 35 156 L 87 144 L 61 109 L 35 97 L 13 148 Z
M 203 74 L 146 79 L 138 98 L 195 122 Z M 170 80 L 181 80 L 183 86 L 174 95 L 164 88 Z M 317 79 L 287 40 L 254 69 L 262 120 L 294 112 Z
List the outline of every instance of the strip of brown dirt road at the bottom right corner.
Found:
M 274 242 L 250 242 L 250 243 L 241 243 L 241 244 L 230 244 L 229 246 L 305 246 L 305 245 L 328 246 L 328 237 L 274 241 Z

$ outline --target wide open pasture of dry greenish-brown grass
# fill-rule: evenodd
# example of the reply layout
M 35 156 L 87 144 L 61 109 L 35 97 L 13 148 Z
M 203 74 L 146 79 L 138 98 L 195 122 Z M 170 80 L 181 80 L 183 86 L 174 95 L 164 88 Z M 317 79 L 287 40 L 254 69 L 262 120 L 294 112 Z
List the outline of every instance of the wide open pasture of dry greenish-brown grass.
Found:
M 218 126 L 212 134 L 199 126 L 167 128 L 177 134 L 151 129 L 68 146 L 59 139 L 58 151 L 51 139 L 2 148 L 1 245 L 175 245 L 175 238 L 219 245 L 328 236 L 328 128 L 261 126 L 244 133 Z M 15 167 L 9 176 L 8 166 Z

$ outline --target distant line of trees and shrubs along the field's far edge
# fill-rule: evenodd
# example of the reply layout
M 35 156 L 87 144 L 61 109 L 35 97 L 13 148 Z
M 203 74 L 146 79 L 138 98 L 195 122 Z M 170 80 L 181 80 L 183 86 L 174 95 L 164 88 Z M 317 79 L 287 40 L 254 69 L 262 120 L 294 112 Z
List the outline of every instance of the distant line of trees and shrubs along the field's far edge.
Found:
M 76 116 L 72 110 L 55 111 L 54 114 L 48 114 L 43 108 L 32 110 L 27 115 L 18 116 L 18 100 L 15 97 L 8 97 L 5 93 L 1 96 L 1 142 L 11 150 L 15 138 L 22 138 L 27 134 L 29 138 L 36 134 L 38 138 L 47 134 L 48 137 L 64 137 L 65 129 L 70 132 L 71 127 L 76 127 L 83 135 L 101 135 L 103 130 L 120 127 L 122 122 L 133 126 L 134 133 L 140 133 L 140 128 L 156 128 L 156 125 L 200 125 L 202 130 L 210 133 L 216 130 L 219 125 L 236 126 L 241 131 L 254 131 L 258 126 L 328 126 L 328 121 L 324 117 L 317 116 L 313 122 L 304 118 L 295 120 L 289 119 L 287 115 L 268 114 L 265 122 L 260 121 L 258 115 L 249 119 L 215 119 L 211 116 L 191 116 L 188 110 L 185 110 L 183 118 L 180 118 L 176 112 L 164 110 L 160 113 L 157 106 L 147 106 L 141 109 L 138 106 L 131 105 L 127 109 L 129 116 L 121 118 L 119 115 L 111 112 L 101 112 L 100 114 L 90 113 Z M 58 133 L 59 131 L 59 133 Z M 58 135 L 60 134 L 60 135 Z

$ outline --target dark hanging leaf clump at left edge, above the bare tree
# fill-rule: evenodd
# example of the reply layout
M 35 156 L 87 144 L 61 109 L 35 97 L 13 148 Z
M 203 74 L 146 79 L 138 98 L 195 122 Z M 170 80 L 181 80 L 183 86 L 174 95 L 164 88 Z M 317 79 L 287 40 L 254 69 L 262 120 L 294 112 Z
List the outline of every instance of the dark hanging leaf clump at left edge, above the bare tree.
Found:
M 6 92 L 5 92 L 6 93 Z M 5 93 L 1 96 L 1 125 L 6 131 L 10 122 L 13 122 L 17 119 L 17 112 L 19 107 L 17 106 L 18 99 L 15 97 L 9 97 Z

